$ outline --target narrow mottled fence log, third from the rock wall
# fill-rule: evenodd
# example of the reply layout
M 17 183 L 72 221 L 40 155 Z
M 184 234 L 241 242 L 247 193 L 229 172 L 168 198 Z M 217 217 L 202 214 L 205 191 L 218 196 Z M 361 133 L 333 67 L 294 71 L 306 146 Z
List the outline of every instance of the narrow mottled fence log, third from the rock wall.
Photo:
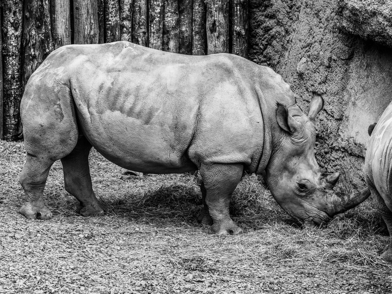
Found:
M 206 4 L 204 0 L 193 0 L 192 7 L 192 55 L 207 54 Z

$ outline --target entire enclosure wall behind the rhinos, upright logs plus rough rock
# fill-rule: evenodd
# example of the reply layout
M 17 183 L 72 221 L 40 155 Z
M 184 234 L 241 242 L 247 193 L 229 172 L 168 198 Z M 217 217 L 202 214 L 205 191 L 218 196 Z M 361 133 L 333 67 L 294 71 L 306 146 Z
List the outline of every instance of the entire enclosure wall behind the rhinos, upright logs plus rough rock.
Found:
M 362 2 L 371 2 L 362 5 L 369 11 L 357 7 Z M 3 139 L 22 130 L 23 87 L 61 45 L 127 40 L 176 53 L 229 52 L 272 67 L 291 85 L 304 110 L 313 94 L 322 96 L 318 162 L 322 169 L 339 171 L 343 180 L 361 187 L 368 125 L 377 122 L 392 99 L 392 7 L 375 3 L 3 0 Z M 376 21 L 384 29 L 372 31 Z

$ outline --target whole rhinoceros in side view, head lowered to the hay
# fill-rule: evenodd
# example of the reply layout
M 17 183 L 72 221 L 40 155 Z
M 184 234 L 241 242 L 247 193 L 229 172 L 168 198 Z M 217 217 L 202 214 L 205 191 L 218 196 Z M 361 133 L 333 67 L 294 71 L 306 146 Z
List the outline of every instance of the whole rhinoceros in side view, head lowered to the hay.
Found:
M 332 191 L 314 157 L 315 96 L 305 115 L 272 69 L 231 54 L 188 56 L 129 42 L 68 45 L 31 75 L 21 103 L 26 163 L 20 213 L 49 219 L 42 193 L 61 160 L 65 190 L 82 216 L 106 209 L 91 187 L 92 146 L 125 169 L 182 173 L 199 169 L 204 209 L 215 234 L 243 230 L 229 216 L 244 168 L 266 171 L 272 195 L 305 226 L 322 225 L 368 197 Z

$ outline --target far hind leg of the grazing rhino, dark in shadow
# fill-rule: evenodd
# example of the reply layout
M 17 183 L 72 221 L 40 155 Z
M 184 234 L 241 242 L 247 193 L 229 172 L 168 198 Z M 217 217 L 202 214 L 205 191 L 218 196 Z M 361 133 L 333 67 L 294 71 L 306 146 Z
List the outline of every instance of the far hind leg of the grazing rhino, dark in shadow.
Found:
M 73 151 L 61 159 L 65 190 L 79 200 L 76 210 L 81 216 L 93 216 L 107 212 L 93 191 L 89 168 L 91 144 L 82 136 Z

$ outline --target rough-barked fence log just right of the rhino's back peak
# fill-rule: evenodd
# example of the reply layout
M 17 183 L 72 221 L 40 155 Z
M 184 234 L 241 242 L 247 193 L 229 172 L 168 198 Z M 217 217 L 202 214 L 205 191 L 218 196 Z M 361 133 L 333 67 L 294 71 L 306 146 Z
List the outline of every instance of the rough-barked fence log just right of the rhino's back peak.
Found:
M 148 46 L 147 35 L 147 0 L 133 0 L 132 42 Z

